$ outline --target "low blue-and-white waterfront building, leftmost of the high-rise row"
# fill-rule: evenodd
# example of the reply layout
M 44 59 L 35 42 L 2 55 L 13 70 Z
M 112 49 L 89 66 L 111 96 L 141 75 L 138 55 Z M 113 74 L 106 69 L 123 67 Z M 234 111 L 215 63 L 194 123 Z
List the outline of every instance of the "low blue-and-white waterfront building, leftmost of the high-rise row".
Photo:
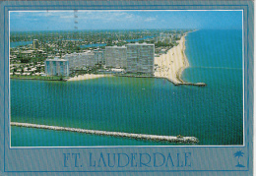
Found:
M 46 59 L 44 66 L 46 76 L 69 76 L 69 62 L 66 59 Z

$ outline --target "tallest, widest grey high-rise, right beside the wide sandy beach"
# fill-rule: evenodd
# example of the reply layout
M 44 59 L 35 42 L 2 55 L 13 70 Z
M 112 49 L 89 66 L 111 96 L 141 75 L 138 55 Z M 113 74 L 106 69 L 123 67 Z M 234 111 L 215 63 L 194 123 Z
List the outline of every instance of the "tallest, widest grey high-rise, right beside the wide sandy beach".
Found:
M 127 47 L 127 73 L 154 74 L 155 44 L 129 43 Z

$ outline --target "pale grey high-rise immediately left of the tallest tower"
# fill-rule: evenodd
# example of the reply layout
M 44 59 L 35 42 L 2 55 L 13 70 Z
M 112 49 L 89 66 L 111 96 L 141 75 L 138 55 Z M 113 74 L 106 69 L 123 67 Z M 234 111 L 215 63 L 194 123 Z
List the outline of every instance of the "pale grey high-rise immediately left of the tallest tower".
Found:
M 127 47 L 126 46 L 106 46 L 104 51 L 106 67 L 126 68 L 127 67 Z

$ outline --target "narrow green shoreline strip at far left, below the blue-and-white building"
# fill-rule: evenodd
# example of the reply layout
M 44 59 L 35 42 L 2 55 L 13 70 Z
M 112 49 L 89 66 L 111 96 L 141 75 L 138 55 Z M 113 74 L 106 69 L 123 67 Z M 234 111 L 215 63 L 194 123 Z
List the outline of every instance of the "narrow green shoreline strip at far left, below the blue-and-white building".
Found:
M 58 76 L 42 77 L 42 76 L 29 76 L 29 75 L 11 75 L 11 79 L 65 81 L 66 77 L 58 77 Z

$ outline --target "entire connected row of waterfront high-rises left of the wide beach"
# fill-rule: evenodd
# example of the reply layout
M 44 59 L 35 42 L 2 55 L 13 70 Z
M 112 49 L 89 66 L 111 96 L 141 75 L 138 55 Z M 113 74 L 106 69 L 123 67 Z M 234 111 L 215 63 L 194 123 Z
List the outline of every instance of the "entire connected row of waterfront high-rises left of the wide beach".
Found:
M 86 70 L 96 64 L 105 69 L 121 69 L 127 74 L 154 74 L 155 44 L 128 43 L 123 46 L 106 46 L 104 50 L 66 54 L 64 59 L 46 59 L 45 74 L 65 75 L 66 70 Z M 67 67 L 66 70 L 63 67 Z

